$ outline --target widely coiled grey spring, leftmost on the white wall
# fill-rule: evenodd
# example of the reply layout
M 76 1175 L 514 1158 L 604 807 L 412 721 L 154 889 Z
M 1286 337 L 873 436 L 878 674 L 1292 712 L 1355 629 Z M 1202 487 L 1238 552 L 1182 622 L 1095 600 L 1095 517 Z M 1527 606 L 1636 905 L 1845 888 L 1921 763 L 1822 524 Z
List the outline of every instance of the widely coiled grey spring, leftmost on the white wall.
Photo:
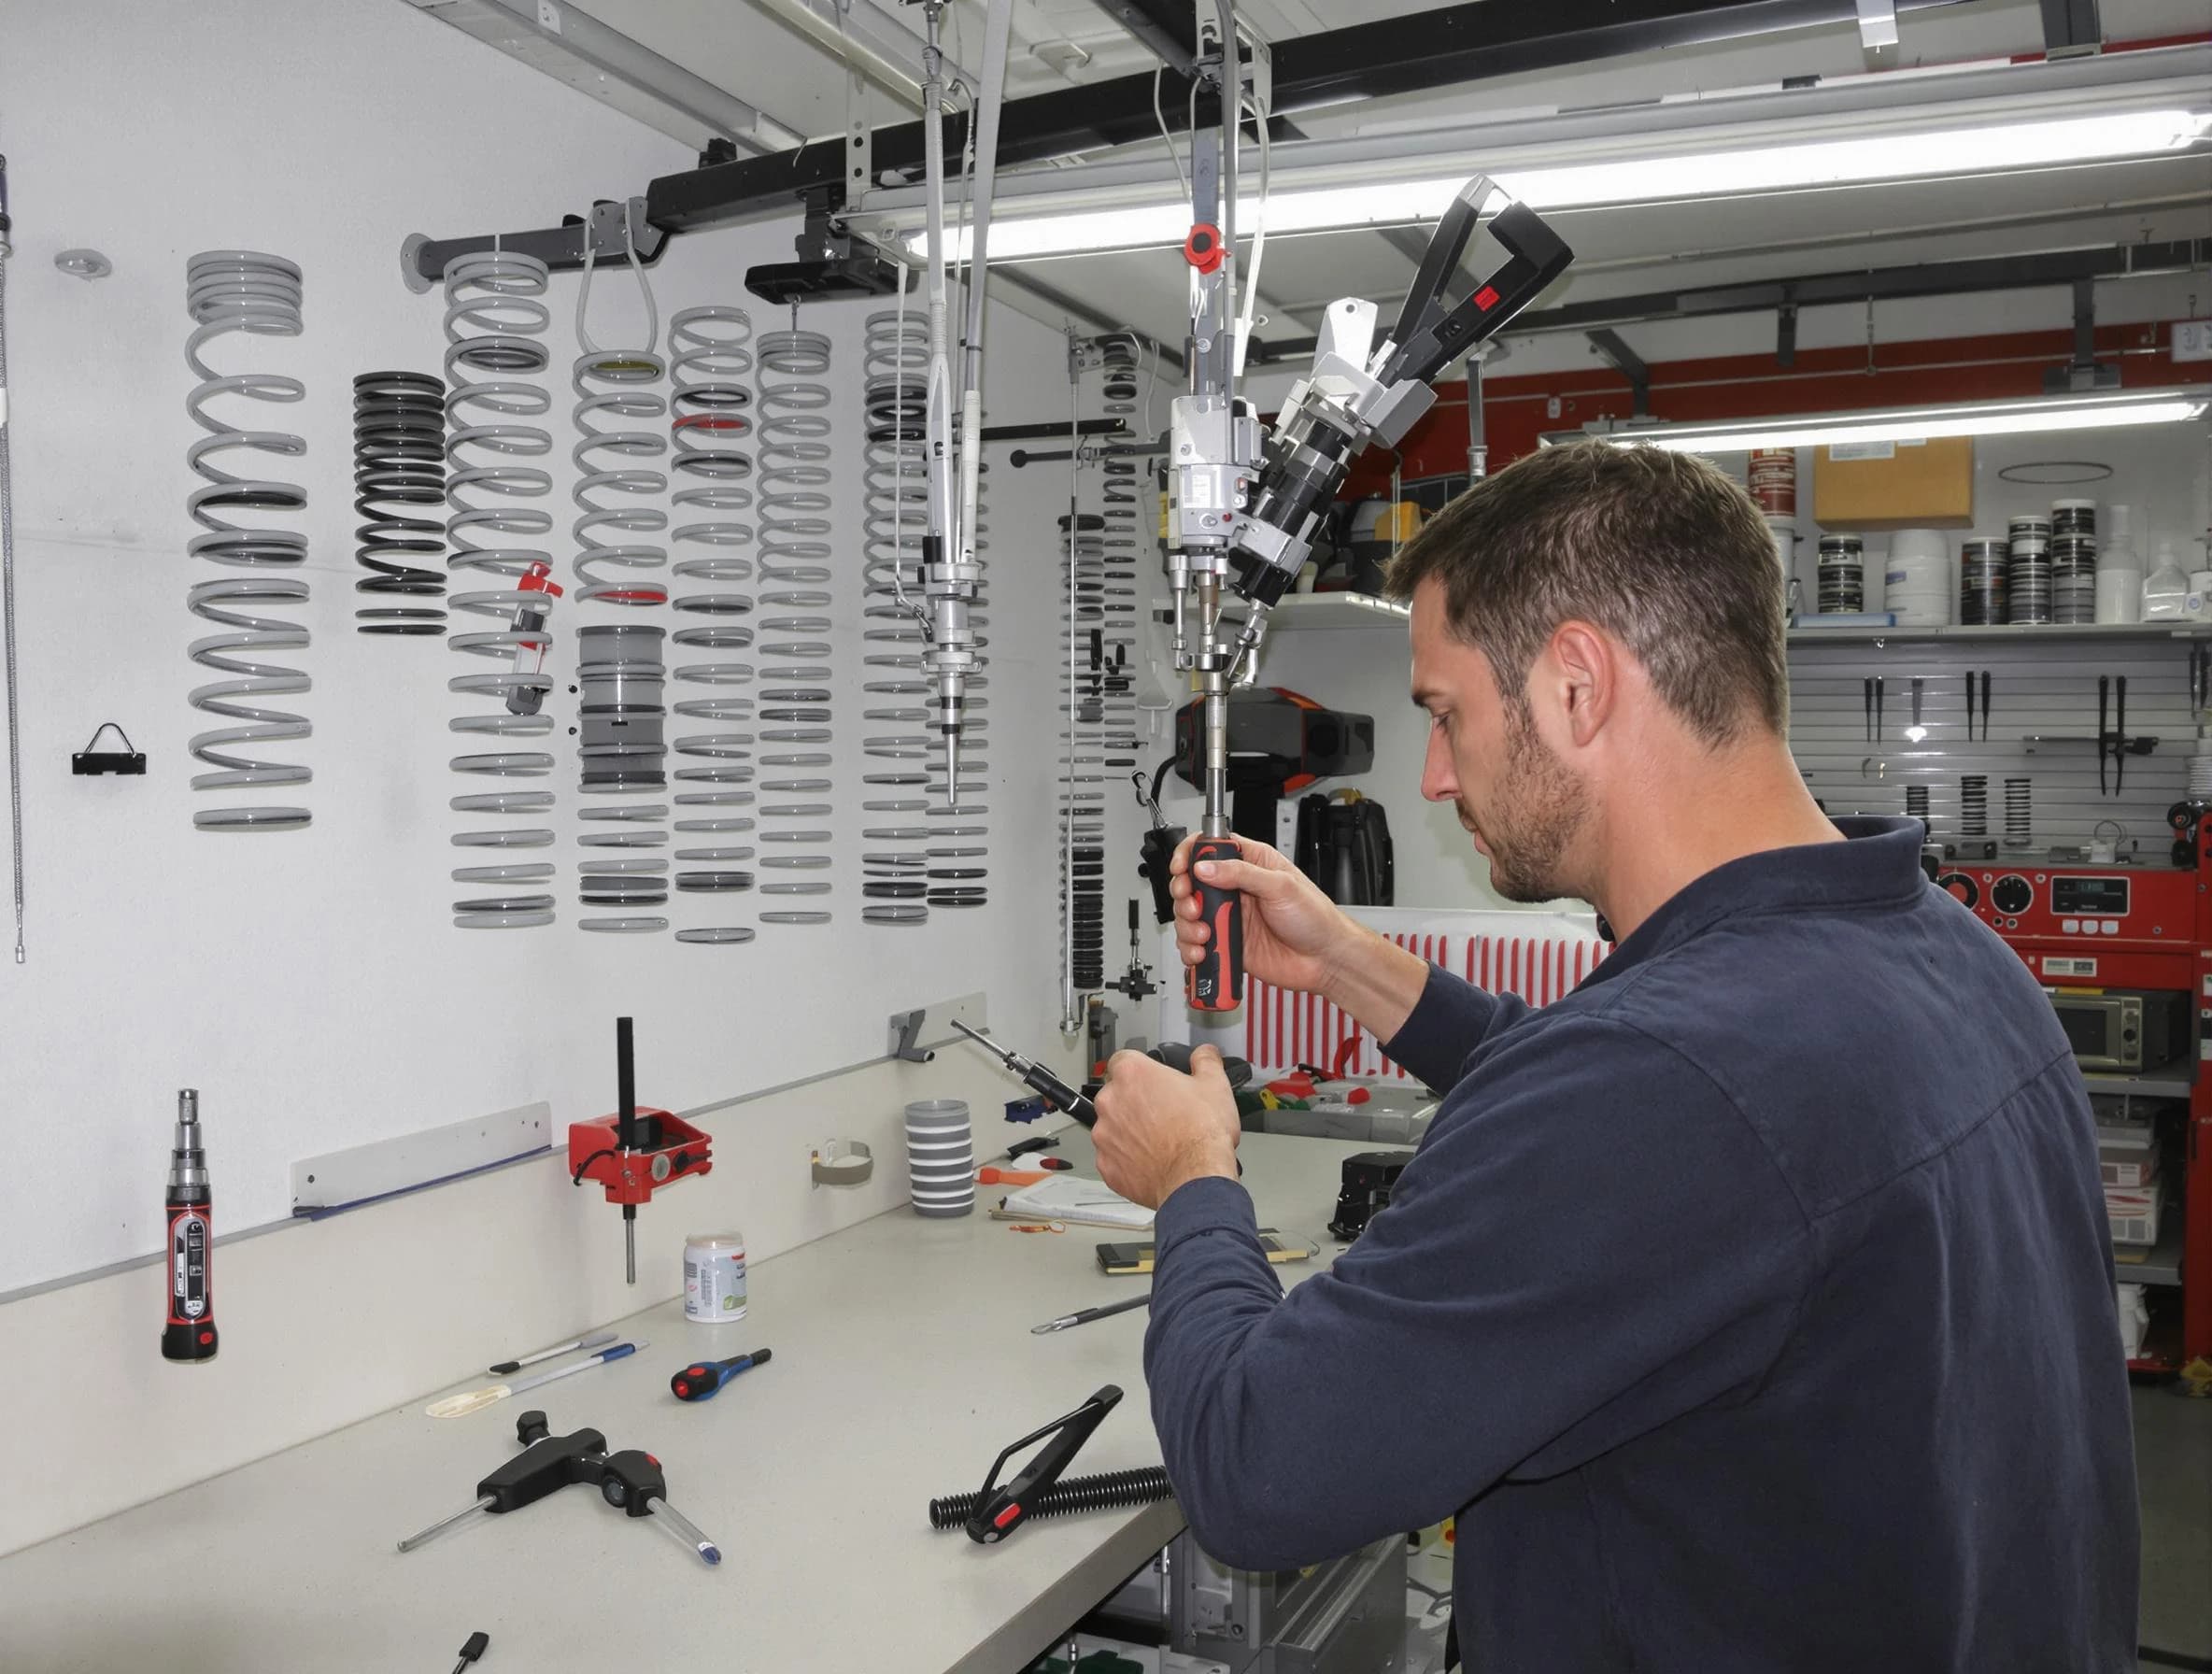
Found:
M 192 774 L 192 789 L 305 785 L 314 776 L 305 765 L 265 761 L 261 745 L 305 739 L 312 732 L 307 716 L 270 708 L 265 701 L 310 690 L 312 681 L 303 670 L 270 661 L 272 652 L 305 648 L 307 628 L 261 610 L 307 604 L 307 582 L 274 573 L 294 571 L 305 562 L 307 535 L 296 529 L 241 524 L 234 517 L 252 511 L 303 511 L 307 491 L 296 482 L 239 475 L 215 460 L 230 451 L 299 458 L 307 444 L 288 431 L 239 429 L 208 407 L 217 400 L 226 409 L 232 400 L 294 402 L 305 396 L 305 385 L 268 372 L 226 376 L 204 358 L 208 345 L 230 332 L 299 336 L 305 329 L 301 272 L 283 257 L 254 250 L 204 250 L 186 261 L 184 283 L 186 310 L 197 327 L 186 341 L 184 360 L 199 378 L 184 405 L 192 422 L 208 431 L 186 451 L 186 462 L 208 484 L 195 489 L 186 502 L 201 529 L 186 551 L 210 564 L 252 571 L 195 582 L 186 593 L 186 608 L 221 630 L 195 639 L 188 655 L 223 677 L 192 688 L 190 703 L 195 710 L 237 723 L 192 736 L 192 756 L 212 767 Z M 250 745 L 252 754 L 241 745 Z M 192 825 L 201 831 L 288 831 L 307 825 L 307 818 L 305 807 L 204 807 L 192 814 Z

